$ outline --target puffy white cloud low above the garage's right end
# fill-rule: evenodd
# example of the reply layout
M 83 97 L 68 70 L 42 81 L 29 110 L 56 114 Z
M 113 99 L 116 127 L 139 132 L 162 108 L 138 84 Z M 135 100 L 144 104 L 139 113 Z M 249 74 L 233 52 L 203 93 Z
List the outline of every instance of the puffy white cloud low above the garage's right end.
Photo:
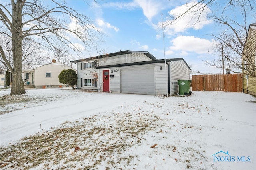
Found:
M 178 36 L 172 41 L 170 50 L 172 51 L 186 51 L 195 52 L 198 54 L 208 53 L 208 50 L 212 49 L 213 42 L 207 39 L 202 39 L 194 36 Z

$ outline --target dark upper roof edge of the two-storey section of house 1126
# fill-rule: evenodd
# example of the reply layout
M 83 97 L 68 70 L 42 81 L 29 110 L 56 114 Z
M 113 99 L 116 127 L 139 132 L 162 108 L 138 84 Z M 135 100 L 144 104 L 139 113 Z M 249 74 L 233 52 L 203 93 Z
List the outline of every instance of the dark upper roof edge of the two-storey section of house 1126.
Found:
M 112 57 L 112 56 L 116 56 L 116 55 L 132 54 L 132 53 L 142 53 L 142 54 L 145 54 L 148 58 L 150 58 L 152 60 L 157 60 L 156 57 L 154 57 L 152 54 L 150 54 L 147 51 L 130 51 L 130 50 L 126 50 L 126 51 L 118 51 L 118 52 L 115 52 L 115 53 L 110 53 L 110 54 L 107 54 L 107 55 L 108 55 L 108 57 Z M 81 62 L 81 61 L 90 61 L 90 60 L 96 59 L 98 57 L 99 57 L 99 59 L 101 59 L 101 58 L 106 57 L 106 55 L 99 55 L 99 56 L 85 58 L 85 59 L 78 59 L 78 60 L 74 60 L 74 61 L 71 61 L 71 62 L 72 63 L 77 63 L 77 62 Z

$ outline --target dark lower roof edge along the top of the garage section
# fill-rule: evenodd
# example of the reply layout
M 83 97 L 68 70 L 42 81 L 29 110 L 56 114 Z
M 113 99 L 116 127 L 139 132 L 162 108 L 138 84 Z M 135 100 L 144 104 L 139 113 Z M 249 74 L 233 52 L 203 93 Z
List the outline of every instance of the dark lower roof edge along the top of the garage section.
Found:
M 179 61 L 182 60 L 184 63 L 186 61 L 183 58 L 172 58 L 172 59 L 166 59 L 166 62 L 170 63 L 172 61 Z M 164 63 L 164 59 L 158 59 L 153 61 L 141 61 L 141 62 L 135 62 L 135 63 L 124 63 L 124 64 L 114 64 L 114 65 L 104 65 L 104 66 L 98 66 L 96 69 L 103 69 L 103 68 L 109 68 L 109 67 L 124 67 L 124 66 L 132 66 L 132 65 L 144 65 L 144 64 L 154 64 L 154 63 Z M 188 64 L 186 63 L 188 66 Z M 188 66 L 190 69 L 190 67 Z

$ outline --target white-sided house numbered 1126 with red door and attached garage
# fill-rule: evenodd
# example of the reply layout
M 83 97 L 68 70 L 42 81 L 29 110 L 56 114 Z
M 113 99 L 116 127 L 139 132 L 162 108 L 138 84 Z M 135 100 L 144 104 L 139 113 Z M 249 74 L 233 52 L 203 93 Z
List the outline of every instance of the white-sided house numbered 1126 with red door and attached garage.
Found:
M 176 95 L 178 79 L 190 79 L 190 68 L 184 59 L 158 60 L 145 51 L 119 51 L 72 62 L 77 63 L 77 86 L 81 89 Z

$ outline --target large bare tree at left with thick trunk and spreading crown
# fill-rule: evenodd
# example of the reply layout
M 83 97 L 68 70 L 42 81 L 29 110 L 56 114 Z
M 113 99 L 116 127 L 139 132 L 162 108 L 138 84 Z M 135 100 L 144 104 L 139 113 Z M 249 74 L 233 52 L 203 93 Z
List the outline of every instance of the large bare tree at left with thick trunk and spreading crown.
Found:
M 44 4 L 47 2 L 50 4 Z M 13 66 L 0 45 L 1 57 L 13 75 L 11 94 L 26 93 L 21 76 L 24 39 L 45 49 L 54 49 L 58 44 L 80 51 L 70 36 L 86 47 L 98 38 L 98 31 L 90 24 L 89 18 L 66 6 L 66 2 L 54 0 L 11 0 L 10 4 L 0 4 L 0 22 L 0 33 L 12 39 Z

